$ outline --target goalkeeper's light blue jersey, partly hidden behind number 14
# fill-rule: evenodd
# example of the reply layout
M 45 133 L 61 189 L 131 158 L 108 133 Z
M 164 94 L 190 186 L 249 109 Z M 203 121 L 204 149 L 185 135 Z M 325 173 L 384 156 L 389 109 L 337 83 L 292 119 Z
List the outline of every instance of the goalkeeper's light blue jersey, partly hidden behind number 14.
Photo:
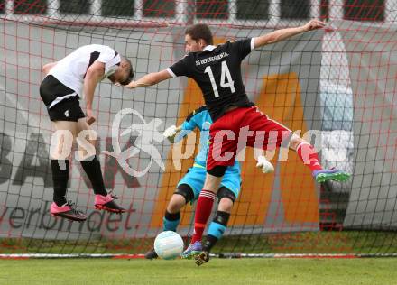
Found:
M 200 130 L 199 153 L 194 160 L 194 166 L 206 167 L 208 146 L 209 146 L 209 127 L 212 124 L 211 116 L 209 115 L 207 106 L 201 106 L 188 115 L 185 122 L 181 125 L 181 131 L 175 138 L 175 142 L 180 141 L 183 137 L 188 135 L 196 128 Z M 240 163 L 235 161 L 231 167 L 240 171 Z

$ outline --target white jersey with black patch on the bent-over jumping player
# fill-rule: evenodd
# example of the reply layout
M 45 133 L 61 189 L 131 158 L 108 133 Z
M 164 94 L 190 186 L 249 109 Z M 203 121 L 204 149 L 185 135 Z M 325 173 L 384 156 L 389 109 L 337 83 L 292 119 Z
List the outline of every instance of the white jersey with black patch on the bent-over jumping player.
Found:
M 102 78 L 104 79 L 115 73 L 121 58 L 115 50 L 106 45 L 85 45 L 58 61 L 50 70 L 49 75 L 74 90 L 75 95 L 81 96 L 87 69 L 95 61 L 105 63 L 105 75 Z

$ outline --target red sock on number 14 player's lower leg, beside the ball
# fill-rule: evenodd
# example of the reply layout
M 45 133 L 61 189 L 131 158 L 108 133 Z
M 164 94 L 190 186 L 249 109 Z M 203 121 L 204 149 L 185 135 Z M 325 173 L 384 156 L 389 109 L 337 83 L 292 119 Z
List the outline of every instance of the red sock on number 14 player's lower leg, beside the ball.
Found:
M 199 200 L 197 201 L 196 215 L 194 216 L 194 234 L 191 238 L 191 244 L 201 241 L 208 218 L 211 216 L 214 199 L 214 192 L 201 190 Z

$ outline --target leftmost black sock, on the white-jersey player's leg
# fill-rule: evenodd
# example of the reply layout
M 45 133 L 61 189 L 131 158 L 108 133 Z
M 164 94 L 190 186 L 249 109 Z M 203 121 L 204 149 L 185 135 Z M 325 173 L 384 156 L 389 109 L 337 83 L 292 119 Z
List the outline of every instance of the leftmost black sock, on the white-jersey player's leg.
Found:
M 51 160 L 52 182 L 54 184 L 54 202 L 61 207 L 68 201 L 66 191 L 69 179 L 69 160 Z

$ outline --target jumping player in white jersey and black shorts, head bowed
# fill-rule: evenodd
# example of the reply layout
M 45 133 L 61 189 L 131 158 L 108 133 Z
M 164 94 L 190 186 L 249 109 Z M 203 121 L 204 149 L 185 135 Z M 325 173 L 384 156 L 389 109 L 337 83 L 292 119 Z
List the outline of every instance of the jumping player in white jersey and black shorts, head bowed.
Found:
M 112 48 L 90 44 L 78 48 L 60 61 L 44 65 L 42 71 L 46 77 L 42 80 L 40 95 L 57 134 L 51 138 L 54 193 L 50 212 L 52 216 L 81 222 L 86 220 L 87 216 L 66 199 L 69 153 L 65 150 L 70 150 L 78 133 L 85 131 L 85 138 L 90 130 L 89 124 L 96 120 L 92 102 L 97 84 L 108 78 L 115 84 L 126 85 L 134 77 L 133 67 L 130 60 L 120 56 Z M 86 100 L 86 114 L 78 102 L 83 94 Z M 123 213 L 126 211 L 125 208 L 119 207 L 115 203 L 115 197 L 106 191 L 94 140 L 92 137 L 89 141 L 78 140 L 78 160 L 94 189 L 95 207 L 113 213 Z M 84 142 L 91 145 L 84 145 Z

